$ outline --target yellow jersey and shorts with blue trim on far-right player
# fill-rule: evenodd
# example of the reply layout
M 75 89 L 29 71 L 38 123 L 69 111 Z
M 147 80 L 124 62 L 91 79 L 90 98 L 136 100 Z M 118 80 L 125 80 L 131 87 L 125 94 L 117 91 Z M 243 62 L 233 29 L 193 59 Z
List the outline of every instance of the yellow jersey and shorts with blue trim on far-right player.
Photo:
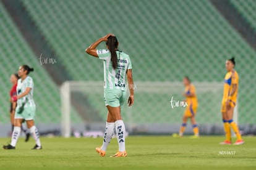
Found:
M 226 102 L 226 100 L 228 99 L 229 93 L 233 91 L 233 84 L 237 84 L 237 88 L 234 94 L 231 96 L 231 101 L 236 103 L 239 76 L 235 70 L 229 71 L 228 73 L 226 73 L 226 76 L 224 79 L 224 88 L 223 88 L 223 102 Z

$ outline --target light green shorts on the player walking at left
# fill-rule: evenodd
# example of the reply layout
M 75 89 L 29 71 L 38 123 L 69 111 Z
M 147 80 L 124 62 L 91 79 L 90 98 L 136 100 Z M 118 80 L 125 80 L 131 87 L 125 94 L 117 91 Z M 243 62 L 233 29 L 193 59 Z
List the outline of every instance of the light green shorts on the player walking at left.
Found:
M 22 111 L 17 107 L 15 110 L 15 119 L 33 120 L 35 118 L 36 107 L 24 107 Z

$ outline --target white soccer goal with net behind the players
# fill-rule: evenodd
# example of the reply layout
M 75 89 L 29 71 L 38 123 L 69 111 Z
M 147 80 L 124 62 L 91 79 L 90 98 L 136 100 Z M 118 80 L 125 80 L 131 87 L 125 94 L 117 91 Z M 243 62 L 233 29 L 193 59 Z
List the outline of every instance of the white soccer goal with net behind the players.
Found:
M 196 119 L 201 134 L 222 134 L 223 83 L 194 85 L 198 97 Z M 124 107 L 121 112 L 129 133 L 168 134 L 178 131 L 185 110 L 182 83 L 138 82 L 134 84 L 134 92 L 134 105 Z M 72 114 L 79 115 L 82 131 L 104 131 L 107 110 L 102 82 L 67 81 L 61 86 L 61 100 L 62 136 L 69 137 L 76 125 L 70 118 Z M 237 107 L 234 120 L 237 121 Z M 187 132 L 192 132 L 190 126 Z

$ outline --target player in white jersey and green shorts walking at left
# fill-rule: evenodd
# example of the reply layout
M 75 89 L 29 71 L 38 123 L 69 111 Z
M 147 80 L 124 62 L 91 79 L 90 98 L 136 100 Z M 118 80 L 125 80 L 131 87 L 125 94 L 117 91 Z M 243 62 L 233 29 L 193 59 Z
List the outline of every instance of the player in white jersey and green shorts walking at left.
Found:
M 20 126 L 22 122 L 25 120 L 27 123 L 28 129 L 30 129 L 30 133 L 35 139 L 35 147 L 32 149 L 41 149 L 41 142 L 38 130 L 36 129 L 34 118 L 35 118 L 35 110 L 36 105 L 33 100 L 33 90 L 34 83 L 33 79 L 28 76 L 30 71 L 33 71 L 33 68 L 28 67 L 28 65 L 22 65 L 19 68 L 18 74 L 20 79 L 17 84 L 17 95 L 12 97 L 14 102 L 17 101 L 17 107 L 15 109 L 15 124 L 14 131 L 12 132 L 12 141 L 9 145 L 2 146 L 4 149 L 10 150 L 15 149 L 15 145 L 20 136 Z

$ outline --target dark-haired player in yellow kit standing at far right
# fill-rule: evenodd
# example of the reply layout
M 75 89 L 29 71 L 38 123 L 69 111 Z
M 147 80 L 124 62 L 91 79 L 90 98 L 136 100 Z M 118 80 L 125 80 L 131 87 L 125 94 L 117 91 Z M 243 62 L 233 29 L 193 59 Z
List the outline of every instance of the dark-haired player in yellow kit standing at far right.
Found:
M 223 88 L 223 99 L 221 105 L 221 113 L 224 124 L 224 131 L 226 133 L 226 140 L 221 142 L 221 145 L 231 145 L 231 127 L 236 134 L 237 140 L 234 145 L 244 144 L 241 134 L 237 127 L 237 124 L 233 121 L 234 107 L 236 106 L 239 76 L 234 67 L 236 62 L 234 57 L 232 59 L 226 60 L 226 76 L 224 78 L 224 88 Z

